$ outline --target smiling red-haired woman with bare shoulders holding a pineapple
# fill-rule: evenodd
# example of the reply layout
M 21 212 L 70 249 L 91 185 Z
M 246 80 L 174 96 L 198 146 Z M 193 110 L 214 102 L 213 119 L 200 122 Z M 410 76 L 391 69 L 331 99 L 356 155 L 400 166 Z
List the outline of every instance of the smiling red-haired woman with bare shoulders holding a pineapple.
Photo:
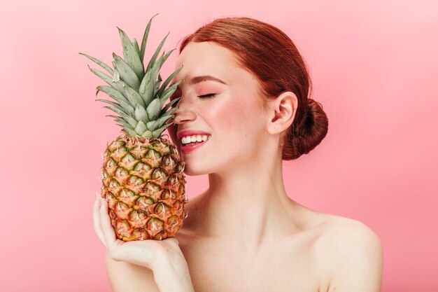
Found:
M 186 204 L 176 237 L 161 242 L 115 240 L 97 199 L 113 290 L 380 291 L 379 237 L 285 193 L 282 160 L 309 153 L 328 126 L 288 36 L 251 18 L 214 20 L 183 40 L 181 65 L 169 134 L 185 174 L 209 174 L 209 188 Z M 208 139 L 184 145 L 196 134 Z

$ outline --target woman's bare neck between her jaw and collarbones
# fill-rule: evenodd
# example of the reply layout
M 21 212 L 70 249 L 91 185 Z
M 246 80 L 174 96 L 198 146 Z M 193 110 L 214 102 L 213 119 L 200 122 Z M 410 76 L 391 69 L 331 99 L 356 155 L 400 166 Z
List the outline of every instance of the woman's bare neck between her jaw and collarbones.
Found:
M 258 249 L 291 231 L 295 202 L 285 193 L 281 158 L 268 157 L 209 174 L 194 214 L 199 235 Z

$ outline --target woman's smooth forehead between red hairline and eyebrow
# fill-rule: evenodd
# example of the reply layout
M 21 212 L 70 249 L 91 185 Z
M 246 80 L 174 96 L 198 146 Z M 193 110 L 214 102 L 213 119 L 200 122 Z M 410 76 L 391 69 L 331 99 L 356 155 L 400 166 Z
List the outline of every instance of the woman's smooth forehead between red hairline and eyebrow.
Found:
M 234 53 L 213 42 L 188 43 L 176 60 L 176 69 L 183 69 L 176 76 L 198 76 L 218 74 L 225 76 L 227 71 L 238 68 L 239 64 Z

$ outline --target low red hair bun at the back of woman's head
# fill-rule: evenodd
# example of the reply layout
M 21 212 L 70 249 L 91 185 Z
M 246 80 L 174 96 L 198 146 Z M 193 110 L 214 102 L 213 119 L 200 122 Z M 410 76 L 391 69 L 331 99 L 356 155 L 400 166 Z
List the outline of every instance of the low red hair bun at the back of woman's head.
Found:
M 283 148 L 283 160 L 293 160 L 309 153 L 323 141 L 328 131 L 328 118 L 323 106 L 307 99 L 304 116 L 297 125 L 292 124 Z

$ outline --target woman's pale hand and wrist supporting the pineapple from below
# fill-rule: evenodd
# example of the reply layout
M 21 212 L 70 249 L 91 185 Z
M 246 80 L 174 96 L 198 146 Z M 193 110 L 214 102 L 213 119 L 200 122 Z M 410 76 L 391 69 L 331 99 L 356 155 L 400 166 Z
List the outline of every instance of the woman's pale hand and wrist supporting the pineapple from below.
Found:
M 113 260 L 153 270 L 160 291 L 193 291 L 188 265 L 176 238 L 132 242 L 117 239 L 108 215 L 108 202 L 99 193 L 94 201 L 93 221 L 94 232 Z M 174 287 L 178 289 L 174 290 Z

